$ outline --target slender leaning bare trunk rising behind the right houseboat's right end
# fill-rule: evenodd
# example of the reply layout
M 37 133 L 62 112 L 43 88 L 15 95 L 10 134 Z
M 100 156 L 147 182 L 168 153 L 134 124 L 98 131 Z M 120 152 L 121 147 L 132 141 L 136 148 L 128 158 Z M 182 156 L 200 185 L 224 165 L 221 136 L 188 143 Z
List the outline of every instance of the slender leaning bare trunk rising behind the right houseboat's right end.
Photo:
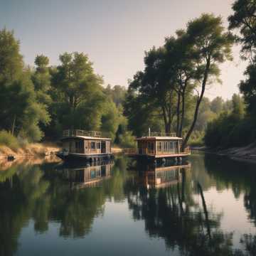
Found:
M 186 145 L 188 143 L 188 139 L 191 137 L 193 129 L 194 129 L 195 125 L 196 125 L 196 121 L 197 121 L 197 118 L 198 118 L 199 107 L 200 107 L 201 101 L 203 100 L 204 92 L 206 90 L 206 82 L 207 82 L 207 79 L 208 79 L 209 68 L 210 68 L 210 58 L 207 60 L 206 70 L 205 70 L 205 72 L 203 74 L 203 82 L 202 82 L 201 94 L 198 97 L 198 100 L 196 101 L 196 109 L 195 109 L 195 112 L 194 112 L 193 122 L 191 124 L 191 127 L 188 129 L 188 132 L 186 134 L 185 139 L 183 140 L 183 144 L 181 146 L 182 150 L 184 150 L 186 148 Z

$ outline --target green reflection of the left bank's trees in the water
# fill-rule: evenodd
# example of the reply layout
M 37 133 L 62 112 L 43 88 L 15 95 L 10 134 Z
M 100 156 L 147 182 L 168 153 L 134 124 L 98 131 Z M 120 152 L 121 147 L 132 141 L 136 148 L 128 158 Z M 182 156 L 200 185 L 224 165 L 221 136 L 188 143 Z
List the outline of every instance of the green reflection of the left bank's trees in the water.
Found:
M 60 223 L 60 236 L 85 236 L 95 217 L 103 214 L 107 200 L 124 200 L 123 183 L 127 174 L 122 170 L 126 165 L 127 159 L 117 158 L 110 179 L 102 181 L 100 186 L 81 189 L 70 186 L 73 180 L 63 178 L 63 172 L 55 164 L 17 165 L 1 171 L 0 255 L 15 254 L 21 229 L 30 220 L 38 233 L 45 233 L 48 224 L 55 221 Z M 102 168 L 102 174 L 105 172 Z

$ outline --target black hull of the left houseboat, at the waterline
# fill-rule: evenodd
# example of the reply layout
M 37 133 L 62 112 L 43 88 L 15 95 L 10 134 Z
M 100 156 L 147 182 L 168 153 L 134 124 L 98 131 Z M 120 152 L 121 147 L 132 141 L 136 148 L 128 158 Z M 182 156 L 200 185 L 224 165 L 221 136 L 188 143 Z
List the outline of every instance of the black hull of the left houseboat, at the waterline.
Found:
M 60 159 L 63 161 L 100 161 L 100 160 L 110 160 L 113 159 L 112 153 L 106 153 L 106 154 L 93 154 L 93 155 L 85 155 L 85 154 L 73 154 L 69 153 L 67 155 L 63 154 L 62 152 L 59 152 L 56 154 Z

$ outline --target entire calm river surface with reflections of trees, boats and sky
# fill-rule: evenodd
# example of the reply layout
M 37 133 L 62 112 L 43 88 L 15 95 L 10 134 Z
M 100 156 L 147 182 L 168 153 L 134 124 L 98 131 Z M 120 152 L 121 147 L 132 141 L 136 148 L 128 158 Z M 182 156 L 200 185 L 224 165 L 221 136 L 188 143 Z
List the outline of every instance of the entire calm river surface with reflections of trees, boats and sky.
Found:
M 256 255 L 256 166 L 169 165 L 0 165 L 0 256 Z

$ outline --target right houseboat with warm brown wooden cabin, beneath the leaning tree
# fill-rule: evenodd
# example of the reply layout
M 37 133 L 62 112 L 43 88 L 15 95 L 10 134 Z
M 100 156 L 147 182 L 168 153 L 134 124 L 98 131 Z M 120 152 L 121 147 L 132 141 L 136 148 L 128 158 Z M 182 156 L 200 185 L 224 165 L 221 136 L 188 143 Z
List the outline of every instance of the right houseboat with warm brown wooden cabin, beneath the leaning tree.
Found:
M 139 137 L 136 140 L 137 151 L 129 155 L 141 159 L 166 161 L 172 158 L 175 161 L 181 161 L 191 154 L 188 147 L 182 150 L 182 138 L 176 137 L 176 134 L 149 132 L 148 136 Z

